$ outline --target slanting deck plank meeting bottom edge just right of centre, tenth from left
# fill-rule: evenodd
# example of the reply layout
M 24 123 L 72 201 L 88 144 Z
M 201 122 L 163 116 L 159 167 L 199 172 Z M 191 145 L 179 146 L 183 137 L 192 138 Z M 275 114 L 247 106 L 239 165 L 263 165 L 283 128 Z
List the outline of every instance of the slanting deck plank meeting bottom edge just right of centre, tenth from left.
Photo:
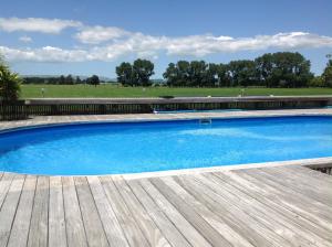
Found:
M 188 240 L 178 232 L 176 226 L 169 221 L 165 213 L 156 205 L 153 198 L 141 186 L 138 181 L 126 181 L 137 200 L 145 207 L 148 215 L 154 219 L 158 228 L 162 230 L 172 246 L 189 247 Z

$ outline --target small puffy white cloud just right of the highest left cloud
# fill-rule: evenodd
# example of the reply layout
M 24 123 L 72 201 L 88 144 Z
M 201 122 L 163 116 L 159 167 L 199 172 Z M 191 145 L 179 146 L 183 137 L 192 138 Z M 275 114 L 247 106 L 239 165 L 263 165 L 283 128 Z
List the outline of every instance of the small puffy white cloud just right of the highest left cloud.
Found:
M 115 26 L 104 28 L 101 25 L 85 26 L 75 34 L 75 37 L 85 44 L 100 44 L 105 41 L 123 37 L 131 33 Z

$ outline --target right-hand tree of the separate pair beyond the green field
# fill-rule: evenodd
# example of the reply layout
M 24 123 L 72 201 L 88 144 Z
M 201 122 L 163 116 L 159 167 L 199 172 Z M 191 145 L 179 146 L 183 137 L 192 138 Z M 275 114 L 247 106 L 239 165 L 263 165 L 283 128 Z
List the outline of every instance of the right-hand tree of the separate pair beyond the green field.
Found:
M 136 60 L 133 64 L 134 80 L 137 79 L 139 86 L 151 86 L 149 77 L 154 75 L 154 64 L 148 60 Z

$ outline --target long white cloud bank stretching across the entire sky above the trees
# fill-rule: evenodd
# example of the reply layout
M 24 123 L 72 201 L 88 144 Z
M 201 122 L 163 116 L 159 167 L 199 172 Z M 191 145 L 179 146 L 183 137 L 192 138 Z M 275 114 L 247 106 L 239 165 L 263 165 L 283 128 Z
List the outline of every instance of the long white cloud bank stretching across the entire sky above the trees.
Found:
M 90 45 L 74 46 L 74 49 L 0 46 L 0 53 L 9 61 L 84 62 L 115 61 L 128 55 L 155 60 L 160 53 L 204 57 L 209 54 L 264 51 L 268 49 L 288 51 L 303 47 L 332 47 L 331 36 L 305 32 L 277 33 L 252 37 L 215 36 L 211 34 L 172 37 L 134 33 L 114 26 L 80 25 L 77 29 L 75 39 Z M 100 44 L 102 42 L 103 45 Z

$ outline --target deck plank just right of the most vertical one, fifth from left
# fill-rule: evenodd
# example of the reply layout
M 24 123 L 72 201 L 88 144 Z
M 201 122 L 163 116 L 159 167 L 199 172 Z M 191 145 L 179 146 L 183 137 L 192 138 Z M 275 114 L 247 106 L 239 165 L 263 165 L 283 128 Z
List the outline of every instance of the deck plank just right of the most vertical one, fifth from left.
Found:
M 87 246 L 81 210 L 76 195 L 74 179 L 62 178 L 64 218 L 66 229 L 66 244 L 69 247 Z

